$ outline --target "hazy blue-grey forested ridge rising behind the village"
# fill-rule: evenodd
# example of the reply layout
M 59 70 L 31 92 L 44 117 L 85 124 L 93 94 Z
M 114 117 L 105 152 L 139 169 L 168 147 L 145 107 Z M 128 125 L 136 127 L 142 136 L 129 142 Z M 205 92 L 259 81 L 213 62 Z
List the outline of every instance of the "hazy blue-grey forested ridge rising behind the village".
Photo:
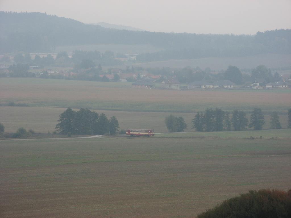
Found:
M 80 44 L 151 44 L 161 52 L 141 54 L 139 60 L 249 56 L 291 53 L 291 30 L 256 35 L 157 33 L 108 29 L 44 13 L 0 12 L 0 52 L 53 51 Z

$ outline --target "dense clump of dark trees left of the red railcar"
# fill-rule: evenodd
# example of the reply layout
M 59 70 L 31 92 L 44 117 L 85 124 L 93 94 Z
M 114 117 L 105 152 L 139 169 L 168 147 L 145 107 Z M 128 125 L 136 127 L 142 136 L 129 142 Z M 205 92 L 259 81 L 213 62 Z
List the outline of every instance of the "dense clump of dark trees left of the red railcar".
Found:
M 67 108 L 60 114 L 56 130 L 60 134 L 74 135 L 114 135 L 118 132 L 119 124 L 115 116 L 108 119 L 105 114 L 81 108 L 74 111 Z

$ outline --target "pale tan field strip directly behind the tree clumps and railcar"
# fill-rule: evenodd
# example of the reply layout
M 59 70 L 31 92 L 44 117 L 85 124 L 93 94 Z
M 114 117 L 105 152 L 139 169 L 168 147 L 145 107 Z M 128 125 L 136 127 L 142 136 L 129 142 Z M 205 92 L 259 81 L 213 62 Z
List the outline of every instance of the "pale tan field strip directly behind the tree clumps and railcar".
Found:
M 77 110 L 77 109 L 76 109 Z M 16 132 L 19 127 L 27 130 L 33 129 L 36 133 L 47 133 L 55 130 L 59 115 L 65 111 L 65 108 L 49 107 L 0 107 L 1 123 L 5 126 L 6 132 Z M 194 113 L 167 113 L 167 112 L 127 112 L 112 110 L 95 110 L 97 113 L 104 113 L 107 117 L 116 116 L 120 129 L 127 128 L 150 128 L 156 133 L 168 132 L 165 125 L 165 117 L 173 114 L 177 117 L 183 117 L 188 128 L 191 129 L 191 120 Z M 248 116 L 249 117 L 249 116 Z M 287 128 L 287 115 L 280 114 L 282 128 Z M 270 115 L 265 115 L 266 124 L 264 129 L 270 128 Z M 210 133 L 211 134 L 211 133 Z

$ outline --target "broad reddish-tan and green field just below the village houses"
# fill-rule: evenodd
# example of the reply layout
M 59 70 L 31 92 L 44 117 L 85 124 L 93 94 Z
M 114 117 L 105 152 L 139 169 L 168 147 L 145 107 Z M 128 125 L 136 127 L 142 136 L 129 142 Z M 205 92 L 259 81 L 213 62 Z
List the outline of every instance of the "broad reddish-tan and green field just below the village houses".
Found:
M 113 85 L 113 87 L 100 87 Z M 123 83 L 120 83 L 121 85 Z M 124 87 L 128 87 L 124 84 Z M 291 107 L 291 90 L 159 90 L 116 87 L 116 83 L 65 81 L 31 78 L 2 78 L 2 103 L 30 106 L 90 108 L 98 110 L 197 112 L 219 107 L 251 111 L 286 112 Z

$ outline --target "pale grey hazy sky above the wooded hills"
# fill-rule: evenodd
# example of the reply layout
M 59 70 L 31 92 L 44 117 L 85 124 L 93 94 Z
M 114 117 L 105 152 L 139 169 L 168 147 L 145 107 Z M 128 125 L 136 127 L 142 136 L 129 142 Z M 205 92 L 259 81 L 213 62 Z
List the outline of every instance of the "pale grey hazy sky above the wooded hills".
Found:
M 291 28 L 291 0 L 0 0 L 0 10 L 162 32 L 255 34 Z

